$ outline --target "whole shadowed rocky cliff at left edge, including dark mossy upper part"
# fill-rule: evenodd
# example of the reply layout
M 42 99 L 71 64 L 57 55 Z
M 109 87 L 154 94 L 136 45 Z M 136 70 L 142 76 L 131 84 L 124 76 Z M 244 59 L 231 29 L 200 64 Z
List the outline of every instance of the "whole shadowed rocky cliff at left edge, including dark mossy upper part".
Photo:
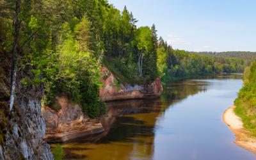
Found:
M 17 73 L 15 104 L 10 99 L 10 58 L 0 53 L 0 159 L 44 159 L 53 156 L 43 140 L 45 121 L 41 115 L 42 88 L 29 82 L 29 68 Z M 26 77 L 27 84 L 20 79 Z

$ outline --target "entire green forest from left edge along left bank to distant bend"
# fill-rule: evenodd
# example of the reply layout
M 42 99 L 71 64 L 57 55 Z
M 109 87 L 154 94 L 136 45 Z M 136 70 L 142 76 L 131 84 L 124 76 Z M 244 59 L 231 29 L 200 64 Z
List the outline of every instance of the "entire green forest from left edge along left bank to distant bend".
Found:
M 251 59 L 173 49 L 154 24 L 137 27 L 126 7 L 120 11 L 104 0 L 1 0 L 0 6 L 1 61 L 12 60 L 11 102 L 16 85 L 42 86 L 43 106 L 67 95 L 93 118 L 104 113 L 98 95 L 102 65 L 120 83 L 148 84 L 157 77 L 166 83 L 243 72 Z

